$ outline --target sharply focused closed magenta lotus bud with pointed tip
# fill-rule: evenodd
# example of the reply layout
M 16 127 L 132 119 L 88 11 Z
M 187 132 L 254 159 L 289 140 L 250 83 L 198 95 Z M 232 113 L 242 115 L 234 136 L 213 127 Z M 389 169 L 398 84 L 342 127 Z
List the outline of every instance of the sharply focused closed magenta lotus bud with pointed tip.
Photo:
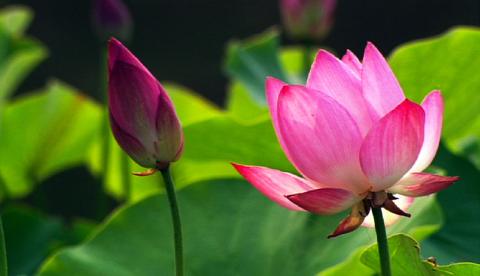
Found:
M 183 132 L 160 82 L 118 40 L 108 44 L 108 107 L 113 135 L 139 165 L 167 166 L 178 160 Z

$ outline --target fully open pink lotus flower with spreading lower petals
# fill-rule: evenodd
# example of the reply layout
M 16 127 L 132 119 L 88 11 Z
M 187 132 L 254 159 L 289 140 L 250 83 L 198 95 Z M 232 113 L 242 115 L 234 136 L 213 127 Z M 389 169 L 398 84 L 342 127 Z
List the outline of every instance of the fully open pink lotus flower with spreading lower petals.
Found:
M 255 188 L 283 207 L 330 215 L 352 208 L 331 235 L 355 230 L 370 207 L 406 215 L 411 197 L 445 189 L 458 177 L 422 173 L 437 151 L 443 120 L 440 91 L 418 105 L 403 91 L 381 53 L 368 43 L 363 62 L 318 52 L 306 85 L 267 78 L 273 126 L 303 178 L 233 164 Z M 387 221 L 390 224 L 391 221 Z M 367 226 L 369 223 L 366 223 Z

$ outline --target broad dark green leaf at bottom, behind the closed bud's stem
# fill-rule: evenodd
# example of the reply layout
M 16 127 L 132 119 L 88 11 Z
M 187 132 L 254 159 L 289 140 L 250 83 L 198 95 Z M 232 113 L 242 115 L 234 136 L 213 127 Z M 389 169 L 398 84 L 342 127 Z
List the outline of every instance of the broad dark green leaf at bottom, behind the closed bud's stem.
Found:
M 292 212 L 243 181 L 191 185 L 178 198 L 187 275 L 313 275 L 375 239 L 365 228 L 327 239 L 345 214 Z M 405 219 L 396 231 L 437 223 L 435 208 L 428 209 L 419 212 L 433 213 Z M 155 195 L 116 212 L 85 244 L 54 255 L 40 275 L 172 275 L 172 253 L 167 201 Z

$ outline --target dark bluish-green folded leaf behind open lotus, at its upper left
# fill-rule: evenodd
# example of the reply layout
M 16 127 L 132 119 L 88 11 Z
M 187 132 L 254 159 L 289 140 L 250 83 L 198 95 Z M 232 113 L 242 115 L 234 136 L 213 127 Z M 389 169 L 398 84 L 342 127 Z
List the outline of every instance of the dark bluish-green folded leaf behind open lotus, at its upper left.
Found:
M 269 30 L 246 41 L 233 41 L 228 45 L 225 69 L 228 75 L 248 89 L 260 104 L 265 101 L 265 78 L 273 76 L 285 79 L 280 65 L 280 37 L 276 30 Z

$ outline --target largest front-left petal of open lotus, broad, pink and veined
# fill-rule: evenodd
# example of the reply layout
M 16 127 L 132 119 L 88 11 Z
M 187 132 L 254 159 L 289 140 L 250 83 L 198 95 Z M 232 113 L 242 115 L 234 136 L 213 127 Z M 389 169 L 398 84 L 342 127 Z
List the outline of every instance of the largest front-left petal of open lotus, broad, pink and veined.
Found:
M 357 157 L 360 131 L 334 99 L 304 86 L 285 86 L 278 125 L 290 161 L 304 176 L 358 193 L 367 189 Z

